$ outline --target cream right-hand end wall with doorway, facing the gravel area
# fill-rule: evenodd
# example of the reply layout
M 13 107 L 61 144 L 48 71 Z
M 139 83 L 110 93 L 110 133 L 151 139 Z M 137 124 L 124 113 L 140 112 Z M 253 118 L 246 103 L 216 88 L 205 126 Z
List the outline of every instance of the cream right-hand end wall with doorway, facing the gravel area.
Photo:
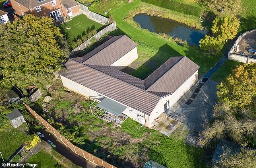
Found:
M 186 80 L 173 94 L 163 97 L 159 100 L 155 109 L 149 116 L 149 127 L 153 126 L 153 121 L 159 117 L 161 113 L 165 112 L 164 104 L 169 100 L 169 107 L 171 108 L 196 82 L 198 81 L 198 70 Z

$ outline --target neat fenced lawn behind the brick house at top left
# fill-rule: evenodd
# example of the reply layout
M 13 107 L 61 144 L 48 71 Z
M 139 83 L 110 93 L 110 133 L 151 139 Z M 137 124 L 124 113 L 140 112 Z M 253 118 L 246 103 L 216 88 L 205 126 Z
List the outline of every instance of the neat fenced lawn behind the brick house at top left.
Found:
M 85 14 L 79 14 L 78 16 L 73 17 L 70 21 L 60 25 L 60 29 L 61 32 L 69 38 L 70 42 L 72 42 L 74 38 L 82 36 L 82 33 L 86 32 L 87 28 L 93 25 L 97 31 L 104 28 L 104 25 L 89 19 Z M 71 29 L 68 30 L 66 27 L 70 27 Z

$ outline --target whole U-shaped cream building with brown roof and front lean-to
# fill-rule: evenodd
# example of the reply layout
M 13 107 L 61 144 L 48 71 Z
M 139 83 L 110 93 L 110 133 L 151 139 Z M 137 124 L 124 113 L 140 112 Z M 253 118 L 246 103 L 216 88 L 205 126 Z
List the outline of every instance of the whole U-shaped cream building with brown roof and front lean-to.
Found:
M 145 80 L 122 72 L 137 55 L 137 44 L 115 36 L 82 57 L 70 58 L 60 71 L 63 86 L 92 101 L 91 111 L 117 125 L 130 117 L 148 127 L 198 80 L 188 57 L 171 57 Z

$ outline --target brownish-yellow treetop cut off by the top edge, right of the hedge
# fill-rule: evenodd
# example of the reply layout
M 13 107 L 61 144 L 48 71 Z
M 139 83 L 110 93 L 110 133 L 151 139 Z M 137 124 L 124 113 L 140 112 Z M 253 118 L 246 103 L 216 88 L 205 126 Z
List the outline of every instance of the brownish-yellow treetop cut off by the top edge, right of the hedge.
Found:
M 204 0 L 205 4 L 218 12 L 237 13 L 241 9 L 241 0 Z

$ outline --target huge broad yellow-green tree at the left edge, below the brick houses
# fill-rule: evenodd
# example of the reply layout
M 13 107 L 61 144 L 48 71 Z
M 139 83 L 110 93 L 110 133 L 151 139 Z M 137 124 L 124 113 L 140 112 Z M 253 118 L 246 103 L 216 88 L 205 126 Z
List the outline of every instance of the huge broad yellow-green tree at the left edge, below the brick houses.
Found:
M 31 84 L 43 89 L 52 81 L 53 72 L 60 68 L 67 51 L 60 29 L 51 18 L 31 14 L 23 19 L 0 25 L 0 87 L 14 84 L 27 88 Z M 60 47 L 62 46 L 62 47 Z

